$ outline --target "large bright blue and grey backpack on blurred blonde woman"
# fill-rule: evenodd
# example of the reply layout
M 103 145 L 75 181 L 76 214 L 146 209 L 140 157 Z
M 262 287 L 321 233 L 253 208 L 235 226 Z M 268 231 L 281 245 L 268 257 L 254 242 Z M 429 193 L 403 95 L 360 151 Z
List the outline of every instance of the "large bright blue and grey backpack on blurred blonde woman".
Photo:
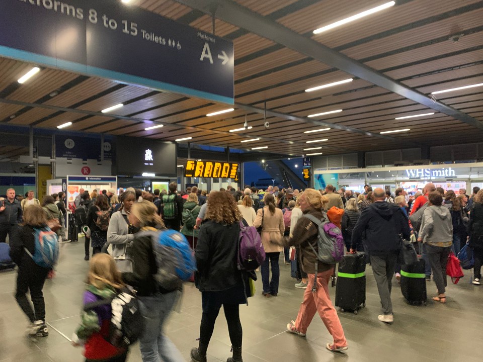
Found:
M 149 235 L 152 251 L 156 259 L 157 284 L 166 291 L 181 287 L 182 281 L 188 281 L 196 269 L 196 259 L 186 237 L 175 230 L 141 231 L 136 237 Z

